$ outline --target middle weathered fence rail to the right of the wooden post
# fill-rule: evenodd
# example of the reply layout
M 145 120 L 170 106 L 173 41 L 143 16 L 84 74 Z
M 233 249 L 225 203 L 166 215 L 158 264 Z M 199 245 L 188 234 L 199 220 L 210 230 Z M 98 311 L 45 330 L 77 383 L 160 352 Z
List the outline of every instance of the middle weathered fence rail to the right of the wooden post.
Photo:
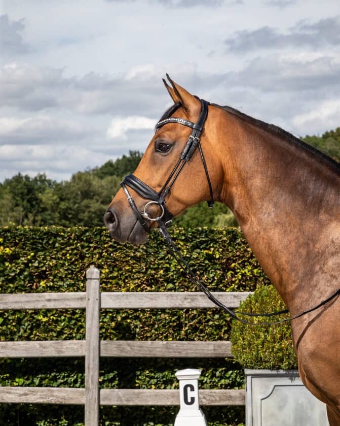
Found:
M 101 356 L 161 358 L 230 358 L 231 342 L 104 340 Z

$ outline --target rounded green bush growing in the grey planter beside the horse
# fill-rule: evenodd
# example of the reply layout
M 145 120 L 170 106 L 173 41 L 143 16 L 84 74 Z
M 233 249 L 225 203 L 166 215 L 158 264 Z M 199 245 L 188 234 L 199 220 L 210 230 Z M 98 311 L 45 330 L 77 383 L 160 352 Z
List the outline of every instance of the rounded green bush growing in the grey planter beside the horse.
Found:
M 284 309 L 286 306 L 272 285 L 258 286 L 254 294 L 240 304 L 240 311 L 250 313 L 276 312 Z M 251 320 L 279 321 L 284 318 L 288 318 L 288 314 Z M 271 326 L 249 326 L 234 320 L 231 342 L 235 360 L 244 368 L 270 370 L 297 368 L 289 321 Z

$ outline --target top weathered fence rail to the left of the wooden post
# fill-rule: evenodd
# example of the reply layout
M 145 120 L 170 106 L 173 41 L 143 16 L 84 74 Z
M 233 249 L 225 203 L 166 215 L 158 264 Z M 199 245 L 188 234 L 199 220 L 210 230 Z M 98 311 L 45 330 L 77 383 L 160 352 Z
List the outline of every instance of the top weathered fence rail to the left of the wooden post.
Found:
M 86 293 L 0 294 L 1 309 L 85 309 Z

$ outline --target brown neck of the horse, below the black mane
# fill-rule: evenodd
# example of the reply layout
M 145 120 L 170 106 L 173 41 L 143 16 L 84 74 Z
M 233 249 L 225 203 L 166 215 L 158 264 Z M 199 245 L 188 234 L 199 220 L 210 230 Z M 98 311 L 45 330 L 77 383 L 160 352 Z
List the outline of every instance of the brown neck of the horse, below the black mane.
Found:
M 298 310 L 306 286 L 320 300 L 334 262 L 340 268 L 339 169 L 293 137 L 224 114 L 221 201 L 289 309 Z

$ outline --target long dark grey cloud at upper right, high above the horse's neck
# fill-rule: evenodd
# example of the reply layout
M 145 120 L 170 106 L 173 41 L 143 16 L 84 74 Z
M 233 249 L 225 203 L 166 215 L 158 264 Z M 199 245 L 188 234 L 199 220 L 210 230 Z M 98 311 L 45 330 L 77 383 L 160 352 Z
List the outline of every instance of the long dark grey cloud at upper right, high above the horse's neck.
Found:
M 249 31 L 236 32 L 224 41 L 228 51 L 245 53 L 258 49 L 280 49 L 287 46 L 308 46 L 311 48 L 340 45 L 340 16 L 321 19 L 314 24 L 300 21 L 290 29 L 289 34 L 283 34 L 276 28 L 263 26 Z

